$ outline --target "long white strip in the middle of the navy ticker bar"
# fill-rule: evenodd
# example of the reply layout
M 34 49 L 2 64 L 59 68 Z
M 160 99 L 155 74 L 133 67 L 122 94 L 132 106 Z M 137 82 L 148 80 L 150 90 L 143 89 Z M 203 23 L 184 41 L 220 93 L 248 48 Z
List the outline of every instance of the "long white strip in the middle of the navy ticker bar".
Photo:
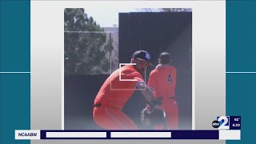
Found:
M 111 132 L 111 138 L 171 138 L 171 132 Z

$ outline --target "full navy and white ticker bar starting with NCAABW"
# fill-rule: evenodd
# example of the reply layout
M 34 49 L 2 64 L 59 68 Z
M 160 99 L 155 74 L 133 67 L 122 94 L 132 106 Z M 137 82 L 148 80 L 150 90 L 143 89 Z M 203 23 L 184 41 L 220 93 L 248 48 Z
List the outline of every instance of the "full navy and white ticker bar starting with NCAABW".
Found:
M 240 140 L 241 130 L 15 130 L 15 139 Z

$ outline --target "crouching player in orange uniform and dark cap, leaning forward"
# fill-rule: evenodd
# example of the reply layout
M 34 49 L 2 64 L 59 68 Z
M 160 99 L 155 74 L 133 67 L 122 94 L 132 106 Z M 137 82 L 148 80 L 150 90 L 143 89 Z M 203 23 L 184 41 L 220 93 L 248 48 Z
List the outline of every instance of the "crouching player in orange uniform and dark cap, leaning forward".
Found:
M 134 122 L 122 112 L 122 107 L 135 90 L 139 90 L 146 102 L 159 108 L 158 101 L 146 86 L 142 74 L 150 63 L 150 54 L 144 50 L 136 51 L 131 64 L 115 70 L 102 85 L 94 99 L 94 122 L 107 130 L 138 130 Z

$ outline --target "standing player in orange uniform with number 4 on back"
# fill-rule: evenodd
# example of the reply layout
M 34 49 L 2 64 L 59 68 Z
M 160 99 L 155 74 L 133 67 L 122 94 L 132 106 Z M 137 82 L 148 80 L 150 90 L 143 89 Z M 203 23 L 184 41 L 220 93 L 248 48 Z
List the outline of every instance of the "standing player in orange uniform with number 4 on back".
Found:
M 160 107 L 166 112 L 167 129 L 177 130 L 178 106 L 175 101 L 176 68 L 170 66 L 170 54 L 166 52 L 160 54 L 158 62 L 159 65 L 150 73 L 148 86 L 154 89 L 154 98 L 162 100 Z

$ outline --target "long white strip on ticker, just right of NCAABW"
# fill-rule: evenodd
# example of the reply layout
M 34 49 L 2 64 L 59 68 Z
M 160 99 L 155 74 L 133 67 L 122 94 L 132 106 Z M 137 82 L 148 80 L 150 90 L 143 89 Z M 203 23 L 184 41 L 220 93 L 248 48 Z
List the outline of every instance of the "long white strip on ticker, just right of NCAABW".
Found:
M 46 138 L 106 138 L 106 132 L 46 132 Z

